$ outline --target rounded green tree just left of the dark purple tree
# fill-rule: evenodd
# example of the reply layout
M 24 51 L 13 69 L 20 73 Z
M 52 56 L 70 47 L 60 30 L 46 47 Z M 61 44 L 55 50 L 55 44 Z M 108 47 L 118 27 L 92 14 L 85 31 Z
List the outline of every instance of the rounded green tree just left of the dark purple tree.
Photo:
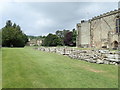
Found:
M 61 39 L 54 34 L 48 34 L 44 39 L 44 46 L 58 46 L 62 45 Z

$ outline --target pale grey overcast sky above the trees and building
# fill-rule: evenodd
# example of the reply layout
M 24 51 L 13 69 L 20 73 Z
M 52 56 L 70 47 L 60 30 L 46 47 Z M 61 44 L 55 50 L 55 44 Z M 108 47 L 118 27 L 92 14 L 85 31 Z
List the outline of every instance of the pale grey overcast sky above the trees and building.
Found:
M 0 28 L 5 26 L 7 20 L 11 20 L 19 24 L 27 35 L 47 35 L 56 30 L 71 30 L 81 20 L 117 8 L 117 2 L 0 3 Z

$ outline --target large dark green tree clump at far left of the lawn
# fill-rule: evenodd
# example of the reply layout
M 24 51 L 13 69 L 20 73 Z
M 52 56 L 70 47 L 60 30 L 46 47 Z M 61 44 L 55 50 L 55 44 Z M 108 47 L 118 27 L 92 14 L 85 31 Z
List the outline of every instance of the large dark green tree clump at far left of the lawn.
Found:
M 24 47 L 27 43 L 27 36 L 22 32 L 19 25 L 8 20 L 2 28 L 2 46 L 5 47 Z

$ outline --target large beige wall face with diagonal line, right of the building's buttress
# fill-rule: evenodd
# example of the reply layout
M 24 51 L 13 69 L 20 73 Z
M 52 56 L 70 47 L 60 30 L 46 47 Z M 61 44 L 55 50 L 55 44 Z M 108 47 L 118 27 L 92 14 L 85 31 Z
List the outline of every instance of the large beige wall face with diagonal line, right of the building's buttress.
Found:
M 108 38 L 109 32 L 116 32 L 116 14 L 101 17 L 91 21 L 91 32 L 93 36 L 92 45 L 96 48 L 107 46 L 112 42 Z

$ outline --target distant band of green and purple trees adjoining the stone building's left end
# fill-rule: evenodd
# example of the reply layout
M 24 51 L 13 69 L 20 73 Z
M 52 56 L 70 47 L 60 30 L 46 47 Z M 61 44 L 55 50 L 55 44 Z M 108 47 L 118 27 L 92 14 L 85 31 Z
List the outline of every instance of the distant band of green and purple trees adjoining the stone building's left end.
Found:
M 28 36 L 28 38 L 30 38 L 30 40 L 43 40 L 42 46 L 76 46 L 76 36 L 77 34 L 75 29 L 72 31 L 64 29 L 57 30 L 55 35 L 49 34 L 49 36 Z

